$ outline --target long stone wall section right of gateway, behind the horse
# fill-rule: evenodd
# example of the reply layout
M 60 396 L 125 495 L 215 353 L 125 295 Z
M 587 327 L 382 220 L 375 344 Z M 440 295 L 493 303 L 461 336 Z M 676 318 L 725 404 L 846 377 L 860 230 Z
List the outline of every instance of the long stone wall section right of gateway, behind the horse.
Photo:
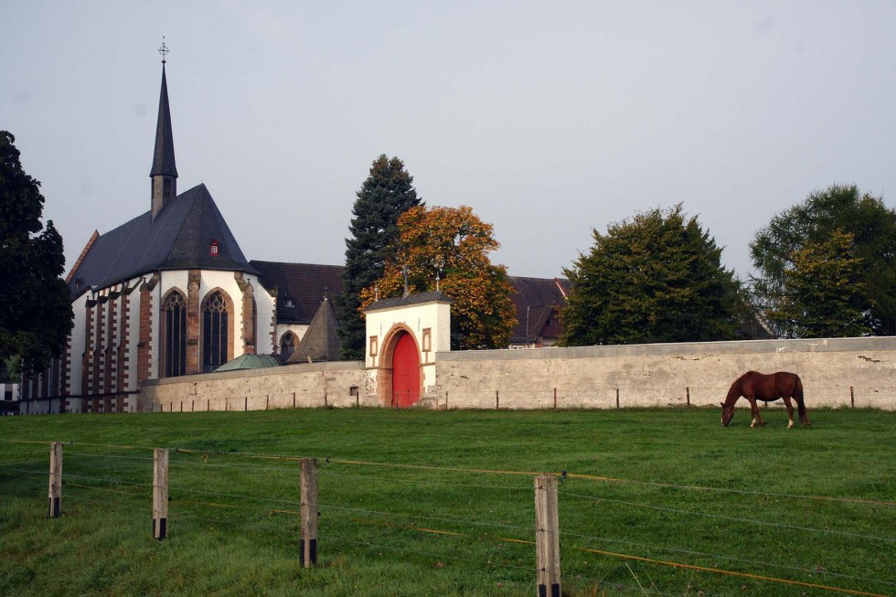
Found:
M 618 396 L 621 408 L 718 407 L 751 369 L 797 373 L 808 410 L 896 410 L 891 336 L 439 353 L 438 386 L 425 401 L 440 409 L 611 409 Z

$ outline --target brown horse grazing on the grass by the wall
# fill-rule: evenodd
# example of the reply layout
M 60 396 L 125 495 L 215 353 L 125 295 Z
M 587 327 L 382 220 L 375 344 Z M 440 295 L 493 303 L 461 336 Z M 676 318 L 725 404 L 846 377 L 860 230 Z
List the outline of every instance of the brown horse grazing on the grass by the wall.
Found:
M 806 427 L 811 424 L 803 402 L 803 382 L 795 373 L 778 371 L 771 375 L 764 375 L 756 371 L 747 371 L 741 375 L 731 384 L 728 397 L 721 403 L 722 425 L 728 426 L 728 423 L 731 422 L 734 417 L 734 403 L 741 396 L 750 400 L 751 427 L 755 427 L 757 423 L 761 427 L 765 424 L 763 416 L 759 413 L 759 407 L 756 406 L 756 400 L 764 400 L 768 403 L 779 398 L 784 399 L 784 405 L 787 407 L 787 417 L 790 419 L 787 429 L 794 426 L 794 406 L 790 403 L 791 399 L 796 400 L 800 421 L 805 423 Z

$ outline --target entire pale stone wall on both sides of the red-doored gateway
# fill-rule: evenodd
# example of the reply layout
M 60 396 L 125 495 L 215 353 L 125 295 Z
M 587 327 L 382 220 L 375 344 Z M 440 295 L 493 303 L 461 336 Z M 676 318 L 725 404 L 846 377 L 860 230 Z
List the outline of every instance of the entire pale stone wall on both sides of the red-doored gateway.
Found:
M 753 369 L 799 374 L 809 410 L 896 410 L 896 337 L 443 352 L 435 369 L 422 408 L 613 409 L 617 396 L 620 408 L 718 407 Z M 371 376 L 343 361 L 151 379 L 137 410 L 381 407 Z

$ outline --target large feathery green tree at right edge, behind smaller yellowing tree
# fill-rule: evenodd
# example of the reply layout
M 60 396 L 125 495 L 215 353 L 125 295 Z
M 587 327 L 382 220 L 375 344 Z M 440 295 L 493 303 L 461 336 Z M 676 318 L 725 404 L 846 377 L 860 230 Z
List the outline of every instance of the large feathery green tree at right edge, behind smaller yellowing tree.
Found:
M 868 317 L 873 335 L 896 335 L 896 210 L 887 208 L 879 197 L 861 195 L 855 185 L 833 185 L 816 191 L 802 203 L 775 215 L 756 233 L 750 243 L 752 262 L 759 273 L 752 277 L 756 303 L 770 322 L 778 325 L 780 334 L 792 333 L 773 315 L 797 308 L 793 301 L 800 300 L 801 293 L 789 287 L 799 280 L 795 272 L 805 270 L 807 257 L 826 254 L 818 246 L 828 243 L 837 230 L 852 239 L 848 255 L 860 260 L 857 284 L 865 289 L 861 314 L 855 311 L 857 296 L 846 303 L 837 302 L 849 305 L 847 312 L 839 314 L 840 318 L 851 319 L 851 325 L 843 329 L 864 327 Z M 813 244 L 816 248 L 802 252 Z M 800 255 L 804 263 L 797 267 L 795 259 Z M 789 303 L 787 309 L 783 308 L 784 302 Z M 809 313 L 813 309 L 806 304 L 800 310 Z

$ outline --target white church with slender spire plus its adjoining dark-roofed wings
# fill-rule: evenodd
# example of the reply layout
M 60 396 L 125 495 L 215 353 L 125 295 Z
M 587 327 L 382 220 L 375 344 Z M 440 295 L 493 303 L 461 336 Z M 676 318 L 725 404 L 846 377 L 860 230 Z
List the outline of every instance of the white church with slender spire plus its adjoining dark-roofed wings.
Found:
M 342 266 L 249 261 L 204 184 L 177 192 L 165 60 L 149 209 L 94 231 L 66 278 L 75 314 L 63 357 L 24 378 L 43 412 L 133 412 L 143 382 L 210 373 L 246 355 L 337 360 Z M 511 346 L 560 336 L 565 280 L 510 277 Z M 23 409 L 23 411 L 25 411 Z

